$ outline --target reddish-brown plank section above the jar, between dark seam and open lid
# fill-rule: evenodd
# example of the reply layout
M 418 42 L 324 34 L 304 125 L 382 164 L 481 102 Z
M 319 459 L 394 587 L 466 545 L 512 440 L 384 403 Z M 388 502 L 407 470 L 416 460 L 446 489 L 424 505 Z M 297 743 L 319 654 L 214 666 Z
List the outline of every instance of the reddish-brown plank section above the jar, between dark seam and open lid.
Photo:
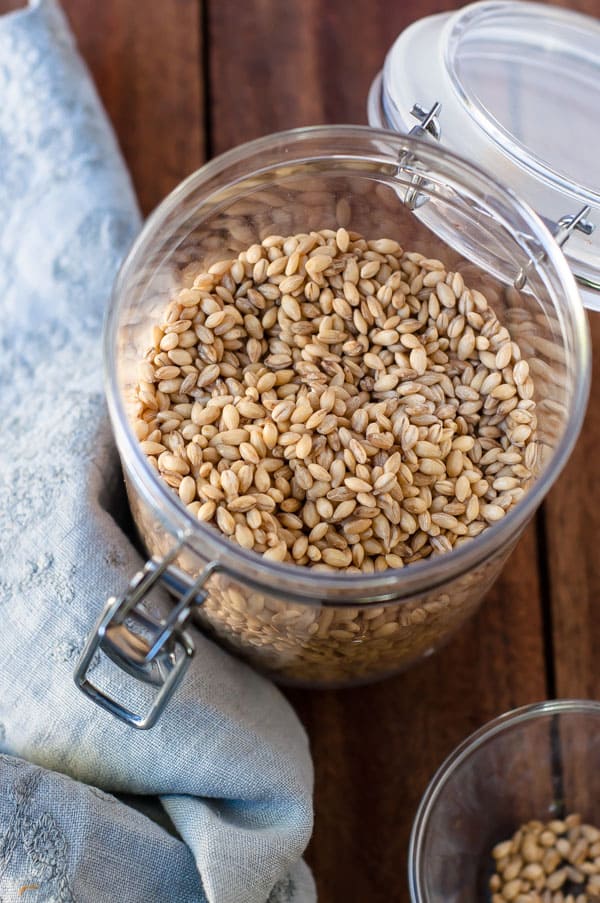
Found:
M 442 0 L 435 11 L 454 6 Z M 213 152 L 275 130 L 366 123 L 367 93 L 385 52 L 433 7 L 385 0 L 212 0 Z

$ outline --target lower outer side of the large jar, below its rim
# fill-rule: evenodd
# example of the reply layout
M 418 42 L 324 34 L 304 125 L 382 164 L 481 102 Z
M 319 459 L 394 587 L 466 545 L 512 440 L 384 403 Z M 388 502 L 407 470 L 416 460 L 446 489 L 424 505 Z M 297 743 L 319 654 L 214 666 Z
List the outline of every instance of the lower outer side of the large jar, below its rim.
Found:
M 126 474 L 131 510 L 148 552 L 162 558 L 176 544 Z M 227 571 L 205 584 L 197 609 L 200 625 L 249 664 L 282 683 L 349 686 L 402 671 L 440 648 L 479 606 L 514 548 L 515 540 L 458 577 L 406 598 L 336 605 L 310 603 L 271 587 L 250 587 Z M 210 561 L 198 545 L 186 545 L 174 564 L 192 577 Z

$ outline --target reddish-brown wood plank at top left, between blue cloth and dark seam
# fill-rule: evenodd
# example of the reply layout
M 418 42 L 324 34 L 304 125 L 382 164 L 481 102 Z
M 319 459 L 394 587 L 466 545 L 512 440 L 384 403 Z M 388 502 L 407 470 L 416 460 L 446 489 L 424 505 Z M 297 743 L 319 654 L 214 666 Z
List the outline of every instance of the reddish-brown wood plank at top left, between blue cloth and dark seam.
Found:
M 204 161 L 198 0 L 64 0 L 144 213 Z

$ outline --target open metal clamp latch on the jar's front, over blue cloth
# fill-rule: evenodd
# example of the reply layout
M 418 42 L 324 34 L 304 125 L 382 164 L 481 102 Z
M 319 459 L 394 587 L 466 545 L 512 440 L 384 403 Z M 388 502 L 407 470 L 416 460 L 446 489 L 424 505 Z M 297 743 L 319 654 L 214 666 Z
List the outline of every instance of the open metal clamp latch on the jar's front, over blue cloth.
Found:
M 148 561 L 121 596 L 112 596 L 107 601 L 75 669 L 75 683 L 80 690 L 97 705 L 139 730 L 146 730 L 156 722 L 189 667 L 195 647 L 183 627 L 192 610 L 206 599 L 204 584 L 219 567 L 217 562 L 208 564 L 167 618 L 148 614 L 143 608 L 144 599 L 174 561 L 183 542 L 181 539 L 161 561 Z M 88 674 L 94 657 L 100 652 L 122 671 L 159 688 L 146 715 L 136 714 L 90 682 Z

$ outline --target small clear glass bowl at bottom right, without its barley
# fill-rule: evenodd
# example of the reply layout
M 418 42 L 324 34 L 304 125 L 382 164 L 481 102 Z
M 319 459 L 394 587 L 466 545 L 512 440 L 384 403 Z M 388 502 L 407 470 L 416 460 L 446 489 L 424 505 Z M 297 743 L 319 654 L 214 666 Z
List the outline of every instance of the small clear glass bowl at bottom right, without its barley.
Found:
M 490 721 L 446 759 L 421 800 L 411 900 L 488 900 L 493 847 L 525 822 L 571 812 L 600 824 L 600 702 L 542 702 Z

